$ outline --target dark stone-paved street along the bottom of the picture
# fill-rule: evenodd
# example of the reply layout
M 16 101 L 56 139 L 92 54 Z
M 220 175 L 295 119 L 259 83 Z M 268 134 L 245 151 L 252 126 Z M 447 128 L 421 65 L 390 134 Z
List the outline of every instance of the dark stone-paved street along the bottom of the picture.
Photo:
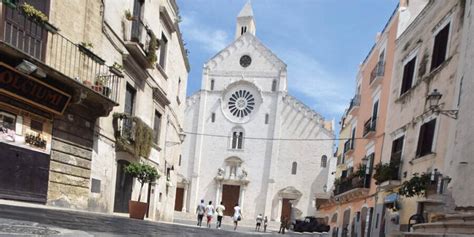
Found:
M 194 223 L 161 223 L 127 217 L 44 208 L 0 205 L 0 236 L 278 236 L 249 228 L 233 231 L 197 228 Z M 286 236 L 318 236 L 288 233 Z

